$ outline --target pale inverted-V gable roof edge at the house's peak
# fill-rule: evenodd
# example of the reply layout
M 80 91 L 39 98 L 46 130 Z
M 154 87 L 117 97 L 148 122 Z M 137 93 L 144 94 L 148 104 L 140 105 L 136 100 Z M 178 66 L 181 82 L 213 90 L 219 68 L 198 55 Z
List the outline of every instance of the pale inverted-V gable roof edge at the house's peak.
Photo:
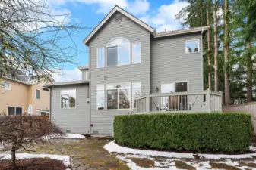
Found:
M 115 5 L 114 8 L 109 12 L 109 14 L 104 17 L 104 19 L 96 26 L 96 28 L 93 29 L 92 32 L 87 36 L 87 38 L 84 39 L 84 44 L 87 45 L 87 42 L 90 41 L 90 39 L 96 34 L 96 32 L 99 31 L 99 29 L 106 23 L 107 20 L 109 20 L 110 17 L 112 17 L 113 14 L 115 14 L 116 11 L 119 11 L 121 14 L 125 15 L 126 17 L 133 20 L 135 23 L 141 25 L 145 29 L 147 29 L 149 32 L 154 32 L 155 29 L 153 29 L 151 26 L 147 25 L 147 23 L 144 23 L 142 20 L 139 20 L 137 17 L 134 17 L 132 14 L 128 13 L 127 11 L 120 8 L 118 5 Z

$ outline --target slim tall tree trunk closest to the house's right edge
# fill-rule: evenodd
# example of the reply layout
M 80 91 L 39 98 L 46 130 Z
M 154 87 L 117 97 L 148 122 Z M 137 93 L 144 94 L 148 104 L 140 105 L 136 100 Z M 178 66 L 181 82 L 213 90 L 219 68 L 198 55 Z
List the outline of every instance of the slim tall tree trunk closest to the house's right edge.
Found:
M 207 26 L 210 26 L 210 7 L 209 7 L 209 0 L 207 1 Z M 207 32 L 207 55 L 208 55 L 208 66 L 209 66 L 209 70 L 208 70 L 208 85 L 209 85 L 209 89 L 211 90 L 211 57 L 210 57 L 210 30 L 208 30 Z

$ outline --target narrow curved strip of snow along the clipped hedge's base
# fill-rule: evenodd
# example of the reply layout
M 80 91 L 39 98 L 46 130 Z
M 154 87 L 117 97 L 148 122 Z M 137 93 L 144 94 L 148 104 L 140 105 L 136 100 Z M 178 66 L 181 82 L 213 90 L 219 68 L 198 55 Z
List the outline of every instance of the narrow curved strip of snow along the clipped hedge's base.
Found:
M 194 159 L 194 153 L 175 153 L 175 152 L 163 152 L 156 150 L 138 150 L 128 147 L 122 147 L 115 144 L 115 141 L 109 142 L 104 146 L 104 149 L 109 151 L 109 153 L 132 153 L 144 156 L 164 156 L 168 158 L 190 158 Z M 225 154 L 196 154 L 198 156 L 203 156 L 206 159 L 242 159 L 251 158 L 251 156 L 256 156 L 256 153 L 240 154 L 240 155 L 225 155 Z

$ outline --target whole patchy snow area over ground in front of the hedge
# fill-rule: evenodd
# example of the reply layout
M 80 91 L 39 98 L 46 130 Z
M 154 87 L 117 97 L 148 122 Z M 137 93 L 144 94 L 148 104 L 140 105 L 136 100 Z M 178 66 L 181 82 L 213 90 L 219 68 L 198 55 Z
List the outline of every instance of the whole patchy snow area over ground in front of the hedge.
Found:
M 241 154 L 241 155 L 224 155 L 224 154 L 194 154 L 194 153 L 175 153 L 175 152 L 162 152 L 155 150 L 138 150 L 131 149 L 128 147 L 121 147 L 118 144 L 115 144 L 114 141 L 106 144 L 104 148 L 109 151 L 109 153 L 113 153 L 118 159 L 126 162 L 127 165 L 133 170 L 172 170 L 172 169 L 180 169 L 178 168 L 178 164 L 182 163 L 182 165 L 188 166 L 187 168 L 192 167 L 198 170 L 203 169 L 211 169 L 212 163 L 221 163 L 224 165 L 228 165 L 233 169 L 235 167 L 239 167 L 239 169 L 256 169 L 255 167 L 248 167 L 248 163 L 256 165 L 256 160 L 251 156 L 256 156 L 256 153 L 249 154 Z M 255 147 L 250 147 L 250 150 L 255 150 Z M 193 155 L 198 155 L 204 157 L 204 159 L 197 160 Z M 245 161 L 245 164 L 241 164 L 243 162 L 241 159 L 249 158 Z M 135 159 L 135 160 L 134 160 Z M 231 160 L 232 159 L 232 160 Z M 140 165 L 138 162 L 145 162 L 147 165 L 147 161 L 153 162 L 153 166 L 144 167 Z M 184 167 L 183 167 L 184 168 Z

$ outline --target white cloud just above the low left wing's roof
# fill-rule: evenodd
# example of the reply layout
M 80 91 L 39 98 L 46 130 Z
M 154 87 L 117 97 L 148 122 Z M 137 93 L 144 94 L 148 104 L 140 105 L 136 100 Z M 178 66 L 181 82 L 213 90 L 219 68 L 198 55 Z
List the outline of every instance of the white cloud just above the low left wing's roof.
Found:
M 82 79 L 82 73 L 79 69 L 74 70 L 57 70 L 56 73 L 52 74 L 55 82 L 69 82 Z

